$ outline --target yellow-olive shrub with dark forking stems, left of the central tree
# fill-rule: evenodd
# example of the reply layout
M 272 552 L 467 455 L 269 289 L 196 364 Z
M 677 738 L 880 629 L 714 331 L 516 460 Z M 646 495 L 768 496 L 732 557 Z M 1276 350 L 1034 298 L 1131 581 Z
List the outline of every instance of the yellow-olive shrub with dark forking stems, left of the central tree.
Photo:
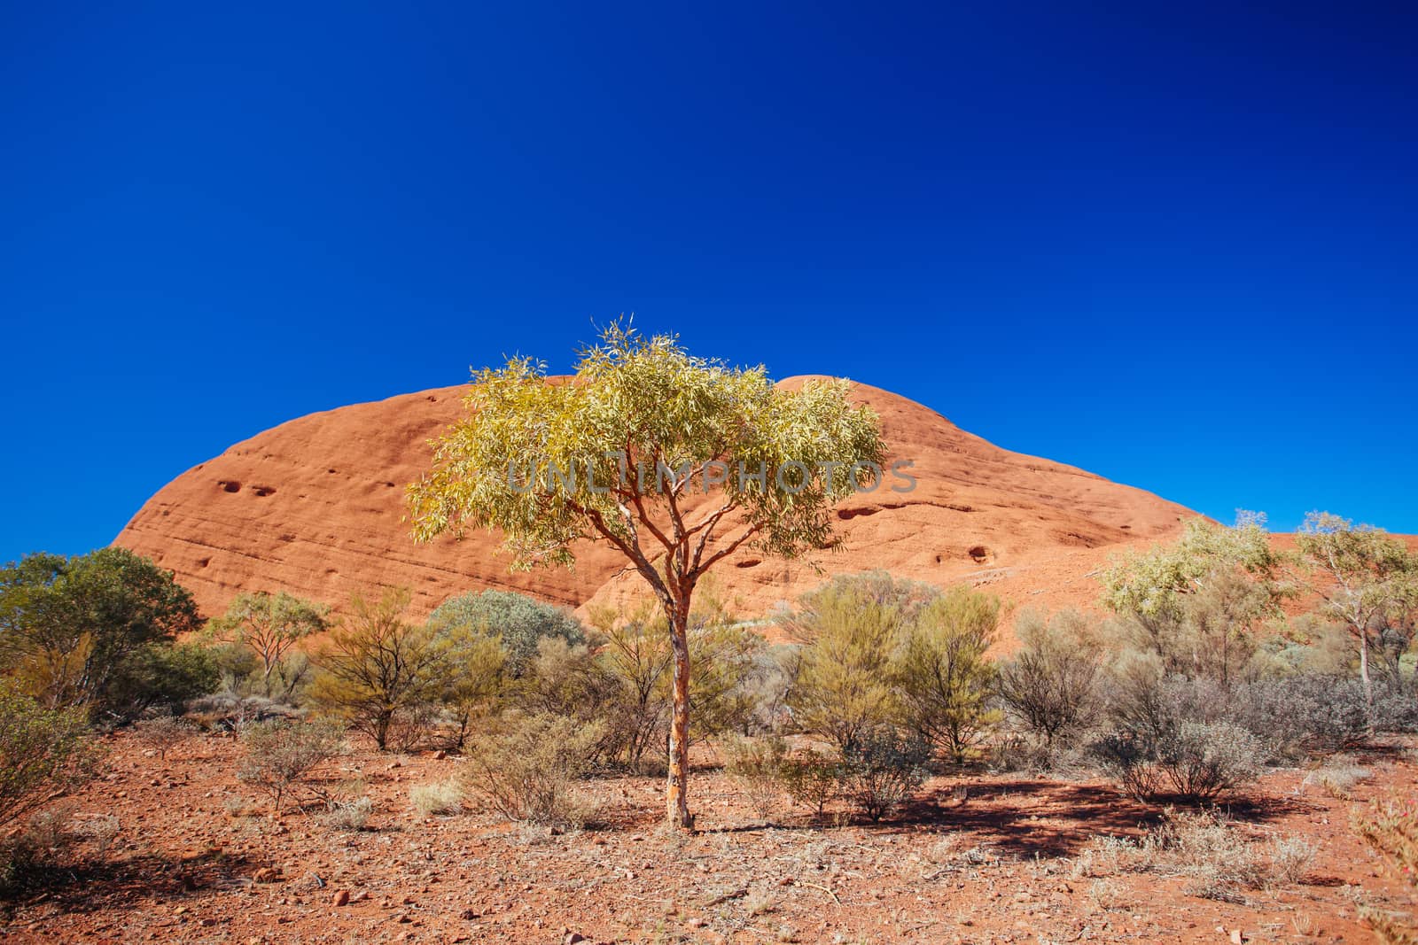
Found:
M 379 601 L 350 599 L 349 622 L 330 630 L 316 657 L 311 698 L 329 714 L 390 747 L 390 730 L 427 720 L 444 681 L 444 662 L 434 632 L 404 621 L 410 592 L 389 589 Z M 403 717 L 403 718 L 400 718 Z

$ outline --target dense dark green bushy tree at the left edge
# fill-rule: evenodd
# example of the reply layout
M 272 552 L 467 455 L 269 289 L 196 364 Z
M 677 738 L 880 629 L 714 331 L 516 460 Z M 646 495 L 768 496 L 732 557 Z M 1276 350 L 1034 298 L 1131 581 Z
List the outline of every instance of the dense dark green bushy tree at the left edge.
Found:
M 125 715 L 156 696 L 135 662 L 197 629 L 191 595 L 147 558 L 102 548 L 26 555 L 0 570 L 0 670 L 50 707 Z

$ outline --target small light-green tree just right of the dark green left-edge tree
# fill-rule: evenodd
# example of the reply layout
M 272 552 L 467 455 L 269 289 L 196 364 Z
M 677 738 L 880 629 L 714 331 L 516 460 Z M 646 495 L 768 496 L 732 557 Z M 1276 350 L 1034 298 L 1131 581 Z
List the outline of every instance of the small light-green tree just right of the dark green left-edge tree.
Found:
M 259 673 L 257 694 L 291 698 L 309 660 L 294 652 L 301 640 L 329 626 L 329 608 L 291 594 L 238 594 L 227 612 L 207 625 L 213 639 L 247 650 L 251 673 Z M 227 657 L 233 669 L 237 660 Z

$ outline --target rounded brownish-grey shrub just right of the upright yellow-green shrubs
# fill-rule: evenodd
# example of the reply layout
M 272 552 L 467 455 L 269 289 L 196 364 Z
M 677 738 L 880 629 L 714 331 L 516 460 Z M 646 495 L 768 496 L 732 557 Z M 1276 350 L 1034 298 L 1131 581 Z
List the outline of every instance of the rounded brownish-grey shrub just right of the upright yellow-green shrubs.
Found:
M 1085 730 L 1100 710 L 1102 653 L 1092 625 L 1071 611 L 1048 622 L 1020 613 L 1021 649 L 1000 667 L 997 691 L 1005 710 L 1028 732 L 1052 747 Z

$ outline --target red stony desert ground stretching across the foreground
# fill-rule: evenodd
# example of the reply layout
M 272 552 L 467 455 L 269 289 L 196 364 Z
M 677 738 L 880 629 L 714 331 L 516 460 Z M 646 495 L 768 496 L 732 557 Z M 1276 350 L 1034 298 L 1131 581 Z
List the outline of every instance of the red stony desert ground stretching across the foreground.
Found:
M 553 836 L 484 813 L 421 817 L 410 786 L 462 762 L 360 751 L 333 776 L 363 779 L 374 813 L 364 830 L 336 832 L 299 813 L 272 822 L 254 799 L 254 813 L 228 813 L 228 799 L 251 798 L 230 738 L 194 735 L 166 761 L 128 732 L 109 744 L 111 774 L 74 802 L 81 819 L 116 815 L 116 842 L 102 866 L 0 912 L 0 939 L 1367 942 L 1358 900 L 1412 908 L 1350 829 L 1367 799 L 1418 791 L 1411 751 L 1361 757 L 1374 778 L 1353 800 L 1305 771 L 1268 775 L 1234 805 L 1236 829 L 1302 834 L 1317 854 L 1297 884 L 1221 902 L 1178 878 L 1075 870 L 1066 857 L 1089 837 L 1136 836 L 1156 815 L 1099 782 L 937 778 L 896 822 L 818 829 L 790 808 L 767 826 L 703 771 L 692 782 L 700 832 L 669 836 L 661 781 L 617 778 L 590 788 L 604 826 Z

